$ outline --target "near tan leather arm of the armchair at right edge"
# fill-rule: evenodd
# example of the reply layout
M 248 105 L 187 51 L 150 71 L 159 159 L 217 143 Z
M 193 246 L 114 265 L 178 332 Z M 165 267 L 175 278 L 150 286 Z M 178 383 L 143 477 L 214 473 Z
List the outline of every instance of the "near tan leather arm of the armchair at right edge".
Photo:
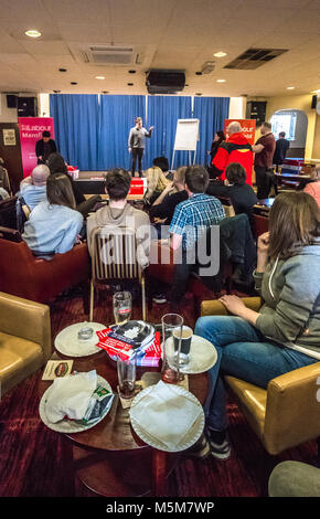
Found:
M 320 362 L 269 382 L 264 442 L 270 454 L 320 436 L 319 388 Z

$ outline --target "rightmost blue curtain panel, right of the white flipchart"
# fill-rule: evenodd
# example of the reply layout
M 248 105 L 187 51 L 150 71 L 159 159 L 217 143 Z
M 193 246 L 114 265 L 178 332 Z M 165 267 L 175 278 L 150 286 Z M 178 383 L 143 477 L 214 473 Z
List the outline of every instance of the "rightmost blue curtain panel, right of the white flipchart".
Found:
M 224 119 L 228 118 L 230 97 L 194 97 L 194 119 L 200 119 L 200 140 L 196 147 L 195 162 L 206 165 L 210 161 L 207 151 L 214 134 L 224 129 Z

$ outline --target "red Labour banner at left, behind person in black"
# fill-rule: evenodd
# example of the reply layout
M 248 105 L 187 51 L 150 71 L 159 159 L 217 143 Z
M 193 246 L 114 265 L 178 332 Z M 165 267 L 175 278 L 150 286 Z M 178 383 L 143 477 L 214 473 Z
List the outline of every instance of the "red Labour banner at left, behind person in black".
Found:
M 52 117 L 18 117 L 23 177 L 29 177 L 36 166 L 35 144 L 42 139 L 43 131 L 51 133 L 54 139 L 54 126 Z

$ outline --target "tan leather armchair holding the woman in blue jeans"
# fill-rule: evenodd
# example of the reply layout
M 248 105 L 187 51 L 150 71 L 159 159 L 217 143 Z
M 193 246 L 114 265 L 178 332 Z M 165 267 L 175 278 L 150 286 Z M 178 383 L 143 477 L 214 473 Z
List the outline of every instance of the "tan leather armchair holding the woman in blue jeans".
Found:
M 259 310 L 262 303 L 259 297 L 246 297 L 243 301 L 255 311 Z M 228 313 L 222 303 L 211 300 L 202 303 L 201 315 L 223 316 Z M 267 390 L 231 375 L 224 380 L 266 451 L 277 455 L 320 436 L 318 377 L 320 362 L 273 379 Z

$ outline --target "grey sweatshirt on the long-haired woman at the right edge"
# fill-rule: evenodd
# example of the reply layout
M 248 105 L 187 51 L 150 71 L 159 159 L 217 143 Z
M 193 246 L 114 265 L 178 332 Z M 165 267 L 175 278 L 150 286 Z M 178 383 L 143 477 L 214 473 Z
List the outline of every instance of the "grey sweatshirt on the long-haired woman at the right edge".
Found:
M 254 277 L 265 300 L 256 328 L 320 360 L 320 241 L 297 256 L 268 264 Z

